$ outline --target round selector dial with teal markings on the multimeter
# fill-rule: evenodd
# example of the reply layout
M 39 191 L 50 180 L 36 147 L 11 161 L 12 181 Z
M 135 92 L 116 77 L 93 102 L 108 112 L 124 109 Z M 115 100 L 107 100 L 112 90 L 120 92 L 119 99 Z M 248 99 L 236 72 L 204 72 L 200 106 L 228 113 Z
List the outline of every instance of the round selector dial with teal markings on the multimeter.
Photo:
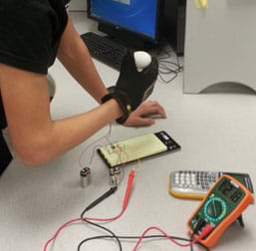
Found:
M 220 197 L 211 196 L 204 204 L 203 212 L 208 221 L 217 223 L 227 213 L 226 202 Z

